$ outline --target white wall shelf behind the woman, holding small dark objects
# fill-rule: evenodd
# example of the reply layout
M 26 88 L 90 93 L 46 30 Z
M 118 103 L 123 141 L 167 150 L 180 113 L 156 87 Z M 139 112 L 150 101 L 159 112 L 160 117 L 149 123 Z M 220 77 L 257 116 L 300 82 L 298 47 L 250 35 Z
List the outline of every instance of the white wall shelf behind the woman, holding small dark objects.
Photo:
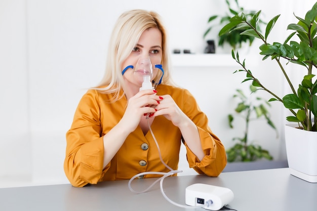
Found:
M 256 58 L 248 55 L 248 64 Z M 172 54 L 171 59 L 174 67 L 240 67 L 231 54 Z

